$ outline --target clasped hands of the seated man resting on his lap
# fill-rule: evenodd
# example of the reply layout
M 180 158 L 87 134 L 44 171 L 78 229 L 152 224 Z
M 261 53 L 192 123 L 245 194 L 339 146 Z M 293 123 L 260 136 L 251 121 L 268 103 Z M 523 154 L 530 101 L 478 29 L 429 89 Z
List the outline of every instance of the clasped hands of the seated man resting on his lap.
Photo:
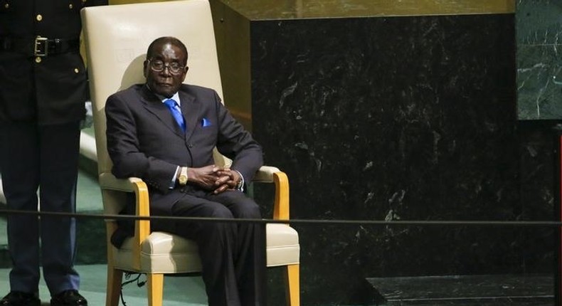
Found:
M 220 194 L 229 189 L 237 189 L 242 180 L 240 174 L 229 168 L 217 167 L 214 164 L 187 170 L 188 184 L 195 184 L 213 194 Z

